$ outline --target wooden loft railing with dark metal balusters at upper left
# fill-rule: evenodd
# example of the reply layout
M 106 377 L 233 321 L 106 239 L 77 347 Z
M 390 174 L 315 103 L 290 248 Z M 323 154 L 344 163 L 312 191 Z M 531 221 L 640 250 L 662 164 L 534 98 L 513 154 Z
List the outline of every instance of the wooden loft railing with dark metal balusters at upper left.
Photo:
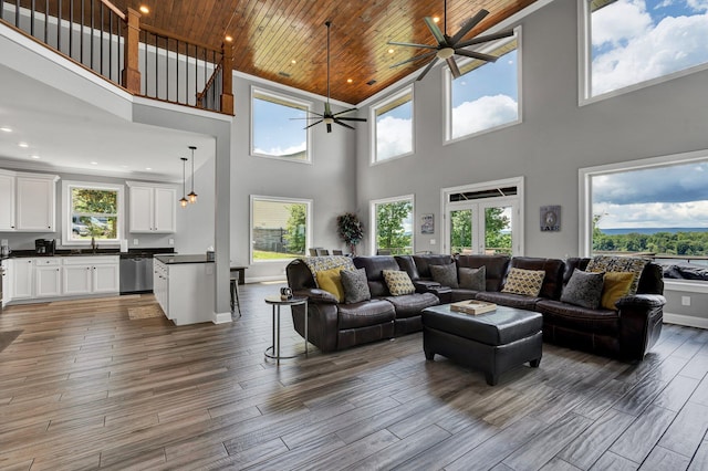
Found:
M 231 49 L 140 24 L 108 0 L 0 0 L 0 21 L 123 86 L 180 105 L 233 114 Z

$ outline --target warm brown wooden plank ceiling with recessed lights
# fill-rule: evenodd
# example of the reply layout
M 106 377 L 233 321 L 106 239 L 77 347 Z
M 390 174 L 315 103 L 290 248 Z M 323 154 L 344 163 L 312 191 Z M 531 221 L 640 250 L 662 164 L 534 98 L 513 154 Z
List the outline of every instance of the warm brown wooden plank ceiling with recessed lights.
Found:
M 537 0 L 448 0 L 447 32 L 485 8 L 490 14 L 473 38 Z M 149 8 L 140 21 L 195 42 L 220 48 L 233 38 L 233 69 L 326 95 L 326 28 L 331 27 L 331 96 L 357 104 L 427 63 L 391 65 L 425 50 L 391 46 L 388 41 L 435 44 L 424 17 L 439 17 L 444 0 L 114 0 Z M 393 53 L 389 52 L 393 50 Z M 347 82 L 350 81 L 351 82 Z M 373 84 L 369 82 L 375 81 Z

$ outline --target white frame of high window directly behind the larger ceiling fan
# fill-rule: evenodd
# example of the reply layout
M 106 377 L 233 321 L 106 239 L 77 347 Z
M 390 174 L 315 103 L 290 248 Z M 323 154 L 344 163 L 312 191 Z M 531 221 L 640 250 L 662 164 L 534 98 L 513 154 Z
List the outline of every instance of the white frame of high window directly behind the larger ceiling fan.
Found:
M 522 45 L 521 45 L 521 27 L 517 27 L 513 29 L 514 35 L 512 38 L 503 39 L 494 41 L 491 44 L 486 45 L 485 48 L 480 48 L 476 51 L 481 53 L 489 53 L 500 45 L 504 44 L 508 41 L 517 41 L 517 95 L 518 95 L 518 113 L 517 119 L 511 121 L 509 123 L 500 124 L 498 126 L 492 126 L 487 129 L 481 129 L 476 133 L 466 134 L 464 136 L 459 136 L 452 138 L 452 73 L 450 72 L 450 67 L 445 65 L 442 66 L 442 103 L 445 104 L 444 119 L 442 119 L 442 145 L 459 143 L 460 140 L 470 139 L 472 137 L 481 136 L 487 133 L 493 133 L 499 129 L 503 129 L 506 127 L 517 126 L 523 123 L 523 87 L 522 87 Z M 466 64 L 471 62 L 472 59 L 460 61 L 458 66 L 464 67 Z M 485 65 L 482 65 L 483 67 Z

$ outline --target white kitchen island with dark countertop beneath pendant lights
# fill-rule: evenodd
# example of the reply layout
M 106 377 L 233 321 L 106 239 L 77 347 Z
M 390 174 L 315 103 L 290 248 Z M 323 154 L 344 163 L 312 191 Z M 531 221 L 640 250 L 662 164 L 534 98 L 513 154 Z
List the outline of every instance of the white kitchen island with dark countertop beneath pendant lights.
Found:
M 217 322 L 215 263 L 206 254 L 162 254 L 153 259 L 153 291 L 175 325 Z

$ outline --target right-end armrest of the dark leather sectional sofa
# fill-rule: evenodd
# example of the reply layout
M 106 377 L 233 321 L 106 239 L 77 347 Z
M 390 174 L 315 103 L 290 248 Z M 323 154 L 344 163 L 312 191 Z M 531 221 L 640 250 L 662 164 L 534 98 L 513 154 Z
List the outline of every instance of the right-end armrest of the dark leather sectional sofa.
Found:
M 659 338 L 666 299 L 660 294 L 635 294 L 620 299 L 620 349 L 624 358 L 643 359 Z

